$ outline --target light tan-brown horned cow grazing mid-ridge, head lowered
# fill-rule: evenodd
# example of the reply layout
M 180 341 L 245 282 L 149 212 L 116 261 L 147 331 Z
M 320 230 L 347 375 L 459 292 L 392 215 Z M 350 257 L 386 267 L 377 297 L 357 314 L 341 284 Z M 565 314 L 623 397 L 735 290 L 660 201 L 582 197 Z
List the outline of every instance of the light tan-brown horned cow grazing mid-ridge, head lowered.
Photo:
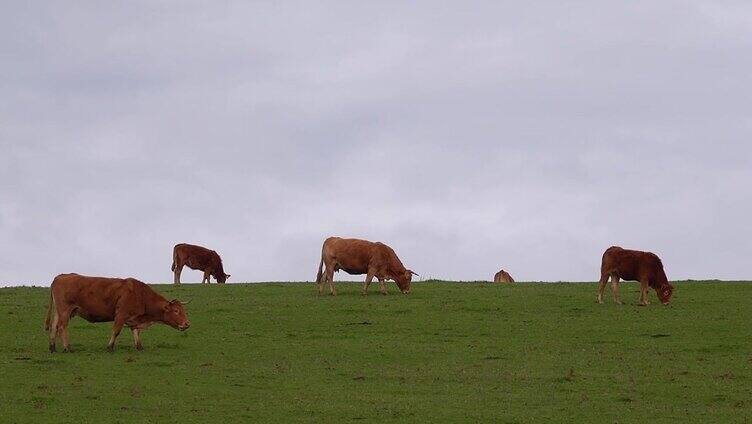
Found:
M 324 265 L 326 273 L 323 272 Z M 363 283 L 364 295 L 368 294 L 368 285 L 373 277 L 379 280 L 381 294 L 387 294 L 385 282 L 389 279 L 397 283 L 402 293 L 410 293 L 412 276 L 418 275 L 405 269 L 394 250 L 383 243 L 329 237 L 321 247 L 321 263 L 316 276 L 319 294 L 324 290 L 324 281 L 328 281 L 331 294 L 337 295 L 334 289 L 334 272 L 340 269 L 352 275 L 366 274 L 366 281 Z

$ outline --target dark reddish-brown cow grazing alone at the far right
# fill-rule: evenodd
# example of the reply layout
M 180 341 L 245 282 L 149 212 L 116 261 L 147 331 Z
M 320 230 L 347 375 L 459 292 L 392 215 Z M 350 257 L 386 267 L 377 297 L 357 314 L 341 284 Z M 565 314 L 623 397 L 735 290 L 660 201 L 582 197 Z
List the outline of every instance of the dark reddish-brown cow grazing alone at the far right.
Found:
M 647 305 L 648 287 L 655 289 L 658 299 L 668 305 L 674 286 L 668 282 L 663 270 L 661 259 L 650 252 L 622 249 L 611 246 L 603 253 L 601 262 L 601 280 L 598 286 L 598 303 L 603 303 L 603 290 L 606 288 L 608 277 L 611 276 L 611 291 L 614 302 L 621 305 L 619 300 L 619 279 L 636 280 L 640 282 L 640 305 Z

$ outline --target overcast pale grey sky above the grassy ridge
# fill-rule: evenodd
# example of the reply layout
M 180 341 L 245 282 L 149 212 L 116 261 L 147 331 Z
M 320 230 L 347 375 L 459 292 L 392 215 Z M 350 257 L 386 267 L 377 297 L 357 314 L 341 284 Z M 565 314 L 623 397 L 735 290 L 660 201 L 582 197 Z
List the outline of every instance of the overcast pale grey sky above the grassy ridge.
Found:
M 752 3 L 0 3 L 0 285 L 752 279 Z M 335 279 L 359 280 L 338 274 Z M 198 282 L 201 273 L 184 271 Z

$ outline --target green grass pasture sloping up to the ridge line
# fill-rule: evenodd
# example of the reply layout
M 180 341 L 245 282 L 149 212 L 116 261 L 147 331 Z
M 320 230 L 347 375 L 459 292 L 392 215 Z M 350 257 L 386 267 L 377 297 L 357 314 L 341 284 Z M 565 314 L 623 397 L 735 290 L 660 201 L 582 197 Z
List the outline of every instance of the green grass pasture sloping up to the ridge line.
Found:
M 192 327 L 114 354 L 80 318 L 48 353 L 48 289 L 0 289 L 0 422 L 752 420 L 752 284 L 676 285 L 668 307 L 635 283 L 623 306 L 594 283 L 162 285 Z

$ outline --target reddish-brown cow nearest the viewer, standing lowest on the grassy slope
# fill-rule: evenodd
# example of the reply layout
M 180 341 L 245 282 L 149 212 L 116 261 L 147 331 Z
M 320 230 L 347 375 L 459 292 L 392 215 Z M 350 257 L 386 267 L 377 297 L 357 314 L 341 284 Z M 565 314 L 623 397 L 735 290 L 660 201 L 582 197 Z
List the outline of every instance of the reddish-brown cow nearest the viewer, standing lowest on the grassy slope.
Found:
M 191 323 L 183 308 L 187 303 L 177 299 L 168 301 L 147 284 L 133 278 L 58 275 L 50 287 L 50 304 L 45 320 L 45 330 L 50 332 L 50 352 L 55 351 L 57 337 L 63 340 L 65 352 L 71 350 L 68 321 L 76 315 L 89 322 L 114 321 L 112 337 L 107 345 L 110 352 L 115 350 L 115 339 L 124 325 L 133 332 L 136 349 L 142 350 L 140 333 L 156 322 L 180 331 L 188 329 Z

